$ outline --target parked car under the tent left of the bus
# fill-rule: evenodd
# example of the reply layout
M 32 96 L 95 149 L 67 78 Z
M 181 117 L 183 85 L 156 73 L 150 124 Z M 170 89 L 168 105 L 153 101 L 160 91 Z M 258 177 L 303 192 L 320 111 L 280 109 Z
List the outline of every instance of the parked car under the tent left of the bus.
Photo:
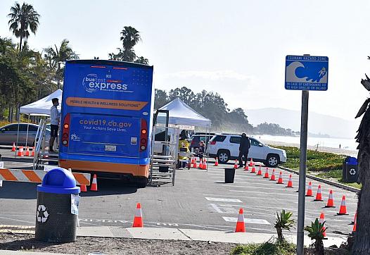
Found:
M 27 136 L 27 126 L 28 126 L 28 136 Z M 39 125 L 31 123 L 19 123 L 18 145 L 25 146 L 27 137 L 27 146 L 33 146 L 38 128 Z M 0 128 L 0 144 L 13 145 L 13 143 L 17 143 L 17 133 L 18 133 L 18 123 L 4 125 L 4 127 Z M 49 139 L 50 139 L 50 129 L 46 128 L 46 142 L 49 142 Z

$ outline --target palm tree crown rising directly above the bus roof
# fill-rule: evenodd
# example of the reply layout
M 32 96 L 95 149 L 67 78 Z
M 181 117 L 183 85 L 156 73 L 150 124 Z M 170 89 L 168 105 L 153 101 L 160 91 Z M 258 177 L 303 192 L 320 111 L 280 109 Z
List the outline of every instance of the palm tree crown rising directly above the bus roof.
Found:
M 134 51 L 134 46 L 141 41 L 141 37 L 139 35 L 139 31 L 136 28 L 131 26 L 125 26 L 124 29 L 121 31 L 121 41 L 123 46 L 123 55 L 122 61 L 129 61 L 132 62 L 136 58 L 136 54 Z

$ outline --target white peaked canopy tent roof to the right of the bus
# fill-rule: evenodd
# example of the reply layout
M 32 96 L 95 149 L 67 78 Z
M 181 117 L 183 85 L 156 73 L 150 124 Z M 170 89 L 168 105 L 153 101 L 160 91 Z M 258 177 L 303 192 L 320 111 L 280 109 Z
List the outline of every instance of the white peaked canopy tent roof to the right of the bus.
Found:
M 197 113 L 190 106 L 177 98 L 162 106 L 160 110 L 169 111 L 168 123 L 172 125 L 193 125 L 210 129 L 211 120 Z

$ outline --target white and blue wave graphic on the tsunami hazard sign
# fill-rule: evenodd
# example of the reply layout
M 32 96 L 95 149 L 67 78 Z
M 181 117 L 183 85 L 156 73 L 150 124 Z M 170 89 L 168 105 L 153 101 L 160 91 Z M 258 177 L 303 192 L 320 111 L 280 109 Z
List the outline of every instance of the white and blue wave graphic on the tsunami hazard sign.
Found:
M 305 65 L 299 61 L 294 61 L 286 67 L 287 82 L 328 82 L 328 73 L 326 68 L 316 68 L 316 70 L 307 70 Z

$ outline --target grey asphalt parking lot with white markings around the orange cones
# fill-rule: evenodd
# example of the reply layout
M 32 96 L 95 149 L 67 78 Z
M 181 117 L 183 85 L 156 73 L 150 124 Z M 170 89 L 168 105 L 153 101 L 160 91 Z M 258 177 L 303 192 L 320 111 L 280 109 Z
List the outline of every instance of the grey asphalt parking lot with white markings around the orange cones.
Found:
M 22 165 L 20 165 L 22 164 Z M 26 167 L 30 163 L 6 162 L 6 167 Z M 213 164 L 212 164 L 213 165 Z M 238 210 L 244 209 L 245 227 L 248 232 L 276 233 L 276 211 L 298 211 L 298 175 L 293 174 L 293 188 L 286 188 L 288 175 L 283 173 L 283 185 L 250 173 L 236 170 L 234 183 L 224 183 L 224 168 L 232 165 L 209 166 L 207 170 L 191 168 L 177 170 L 175 186 L 136 189 L 117 180 L 98 180 L 98 192 L 82 193 L 79 220 L 83 225 L 132 225 L 136 203 L 140 202 L 144 226 L 158 228 L 191 228 L 202 230 L 234 231 Z M 276 169 L 276 180 L 280 169 Z M 269 168 L 271 174 L 272 168 Z M 307 179 L 307 183 L 310 179 Z M 354 192 L 312 181 L 314 194 L 321 185 L 324 201 L 306 197 L 305 225 L 325 213 L 327 234 L 338 236 L 352 231 L 357 208 Z M 37 203 L 37 184 L 4 182 L 0 187 L 0 225 L 34 225 Z M 333 189 L 336 208 L 326 209 L 329 189 Z M 347 199 L 347 213 L 337 216 L 340 199 Z M 295 232 L 295 230 L 293 230 Z

